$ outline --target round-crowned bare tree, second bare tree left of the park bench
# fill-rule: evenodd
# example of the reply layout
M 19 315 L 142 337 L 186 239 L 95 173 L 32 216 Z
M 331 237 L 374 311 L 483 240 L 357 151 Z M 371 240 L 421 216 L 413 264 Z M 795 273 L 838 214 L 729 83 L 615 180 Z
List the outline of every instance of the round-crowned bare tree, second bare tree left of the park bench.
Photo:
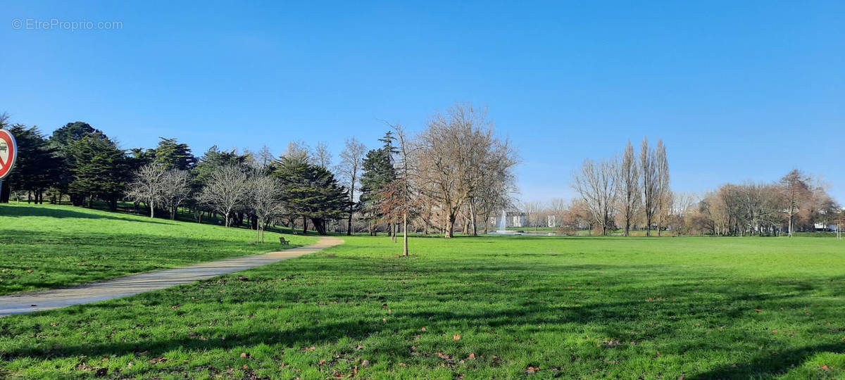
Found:
M 221 166 L 211 172 L 199 199 L 222 214 L 228 227 L 232 211 L 242 205 L 249 196 L 247 180 L 247 174 L 242 168 L 234 165 Z

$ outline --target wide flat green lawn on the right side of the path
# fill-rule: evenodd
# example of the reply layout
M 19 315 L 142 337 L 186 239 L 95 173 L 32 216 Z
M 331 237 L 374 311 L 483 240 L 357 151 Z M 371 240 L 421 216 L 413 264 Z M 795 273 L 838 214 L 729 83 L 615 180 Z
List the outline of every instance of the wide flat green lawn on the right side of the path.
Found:
M 351 237 L 219 280 L 3 318 L 0 376 L 845 376 L 842 241 L 411 247 L 401 258 L 386 237 Z

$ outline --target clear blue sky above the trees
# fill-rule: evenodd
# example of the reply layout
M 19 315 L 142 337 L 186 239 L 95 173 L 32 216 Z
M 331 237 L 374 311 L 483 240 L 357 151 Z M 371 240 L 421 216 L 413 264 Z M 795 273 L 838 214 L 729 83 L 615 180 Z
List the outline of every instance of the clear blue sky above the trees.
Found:
M 581 160 L 647 135 L 675 189 L 798 167 L 845 202 L 845 2 L 299 3 L 3 2 L 0 111 L 123 148 L 336 154 L 470 101 L 519 147 L 526 200 L 570 198 Z

